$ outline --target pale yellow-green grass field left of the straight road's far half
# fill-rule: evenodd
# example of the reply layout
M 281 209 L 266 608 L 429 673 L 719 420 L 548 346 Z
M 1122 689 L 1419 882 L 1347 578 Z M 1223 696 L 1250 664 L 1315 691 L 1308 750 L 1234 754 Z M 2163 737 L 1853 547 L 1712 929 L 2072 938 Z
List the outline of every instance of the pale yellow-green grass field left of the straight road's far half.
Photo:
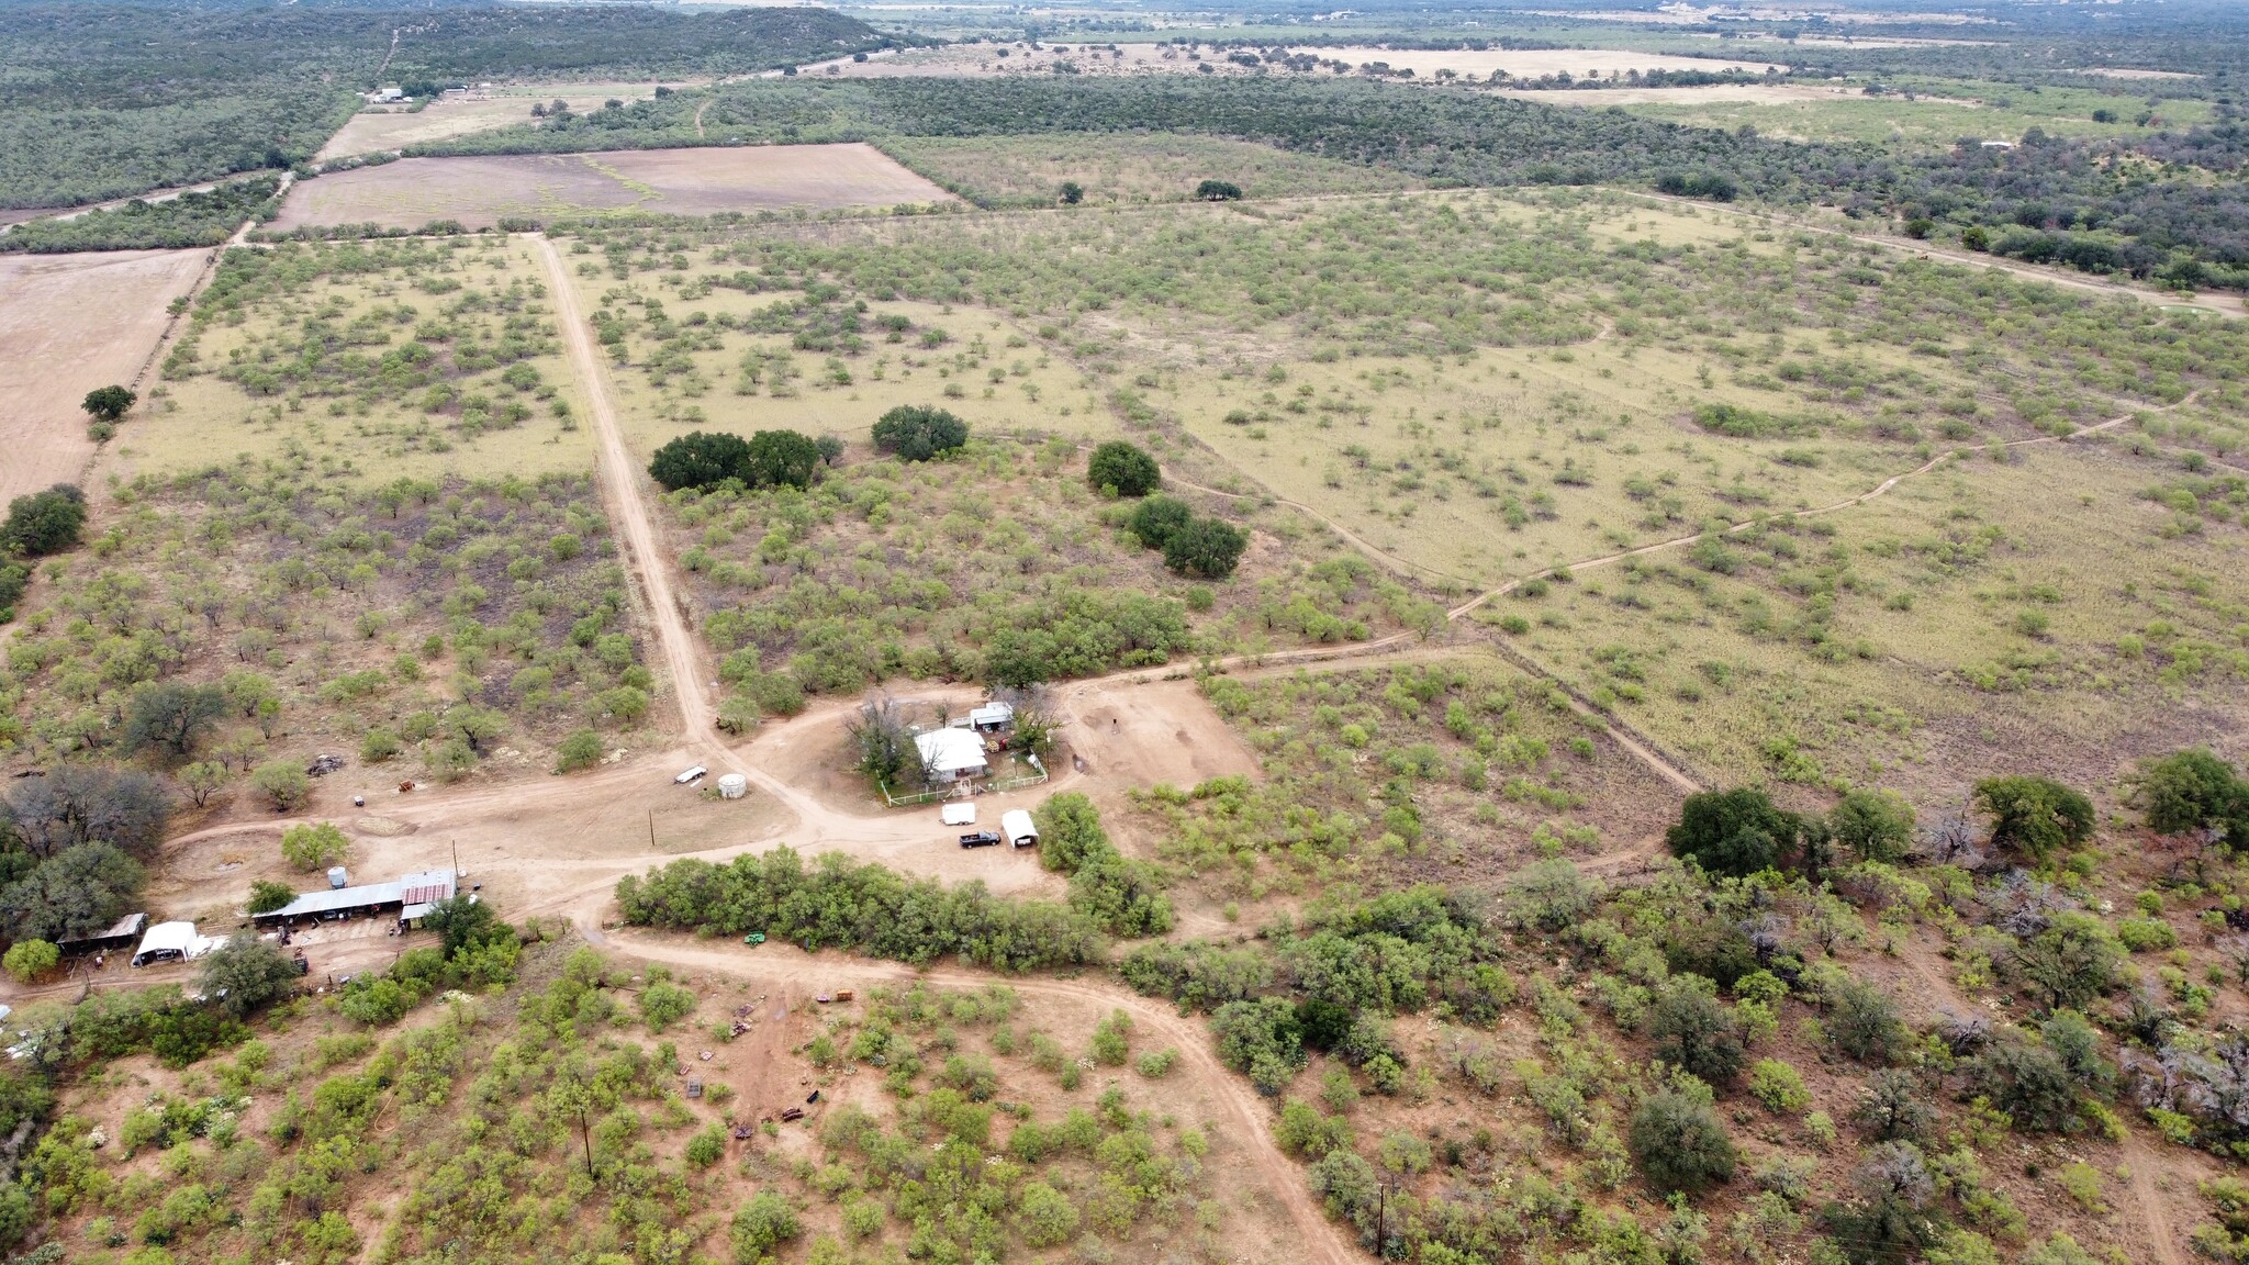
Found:
M 589 470 L 542 277 L 529 243 L 490 236 L 234 252 L 108 470 L 290 452 L 362 484 Z

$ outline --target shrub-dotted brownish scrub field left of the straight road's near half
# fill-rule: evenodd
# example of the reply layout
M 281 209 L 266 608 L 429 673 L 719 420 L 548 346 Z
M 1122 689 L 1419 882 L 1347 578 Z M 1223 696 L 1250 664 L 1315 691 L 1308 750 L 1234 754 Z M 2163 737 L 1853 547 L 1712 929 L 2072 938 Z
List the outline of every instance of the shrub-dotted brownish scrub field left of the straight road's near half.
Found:
M 643 738 L 654 687 L 589 473 L 373 488 L 283 441 L 112 495 L 9 639 L 18 759 L 211 761 L 241 783 L 337 754 L 454 781 L 553 768 L 576 729 L 603 729 L 603 752 Z M 225 707 L 184 750 L 133 752 L 112 716 L 148 682 Z

